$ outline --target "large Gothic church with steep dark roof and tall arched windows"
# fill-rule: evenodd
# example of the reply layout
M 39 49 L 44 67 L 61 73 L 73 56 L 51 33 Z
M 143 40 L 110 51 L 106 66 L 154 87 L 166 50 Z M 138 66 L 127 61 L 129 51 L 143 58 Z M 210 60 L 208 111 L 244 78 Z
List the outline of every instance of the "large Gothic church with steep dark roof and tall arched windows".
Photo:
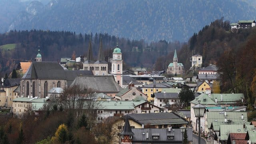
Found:
M 45 98 L 48 90 L 65 89 L 78 75 L 92 75 L 89 70 L 64 70 L 58 62 L 32 62 L 20 81 L 20 95 Z

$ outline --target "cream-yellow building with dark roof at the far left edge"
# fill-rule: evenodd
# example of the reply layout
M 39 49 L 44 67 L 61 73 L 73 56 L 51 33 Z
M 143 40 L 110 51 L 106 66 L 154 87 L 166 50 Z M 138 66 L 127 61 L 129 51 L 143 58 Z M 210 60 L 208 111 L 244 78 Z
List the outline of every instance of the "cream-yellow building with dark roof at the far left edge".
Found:
M 0 107 L 12 107 L 12 100 L 19 93 L 15 90 L 20 86 L 20 78 L 1 79 L 0 82 Z

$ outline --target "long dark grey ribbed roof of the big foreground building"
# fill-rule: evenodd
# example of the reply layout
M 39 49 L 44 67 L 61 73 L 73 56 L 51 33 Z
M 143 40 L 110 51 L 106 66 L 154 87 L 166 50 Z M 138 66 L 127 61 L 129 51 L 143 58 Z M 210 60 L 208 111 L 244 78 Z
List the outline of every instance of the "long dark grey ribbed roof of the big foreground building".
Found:
M 129 119 L 139 124 L 187 124 L 186 119 L 174 112 L 146 113 L 146 114 L 127 114 Z

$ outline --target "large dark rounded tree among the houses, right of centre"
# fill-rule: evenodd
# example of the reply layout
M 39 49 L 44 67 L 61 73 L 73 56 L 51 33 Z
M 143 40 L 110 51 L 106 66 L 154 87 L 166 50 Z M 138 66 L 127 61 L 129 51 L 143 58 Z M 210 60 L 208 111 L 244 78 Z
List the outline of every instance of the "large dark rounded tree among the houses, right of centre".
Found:
M 179 93 L 180 102 L 188 106 L 189 102 L 195 99 L 195 95 L 188 86 L 184 86 Z

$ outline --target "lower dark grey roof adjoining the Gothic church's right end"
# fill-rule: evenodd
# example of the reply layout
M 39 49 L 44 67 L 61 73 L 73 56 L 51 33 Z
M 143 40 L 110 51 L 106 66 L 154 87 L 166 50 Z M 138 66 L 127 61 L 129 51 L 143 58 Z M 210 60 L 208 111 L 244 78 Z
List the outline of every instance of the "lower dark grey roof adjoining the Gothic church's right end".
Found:
M 93 76 L 90 70 L 65 70 L 68 86 L 72 84 L 77 76 Z

